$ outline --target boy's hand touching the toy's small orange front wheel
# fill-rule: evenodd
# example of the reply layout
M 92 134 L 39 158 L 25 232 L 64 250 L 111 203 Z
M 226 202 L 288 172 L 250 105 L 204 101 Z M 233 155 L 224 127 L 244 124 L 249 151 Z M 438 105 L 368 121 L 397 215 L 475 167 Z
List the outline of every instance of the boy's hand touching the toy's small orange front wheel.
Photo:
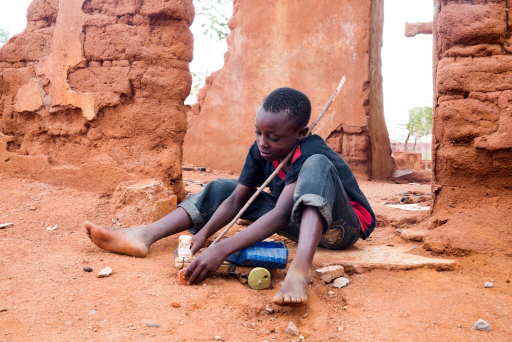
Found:
M 201 254 L 187 266 L 183 277 L 187 279 L 187 284 L 201 283 L 207 276 L 215 273 L 219 266 L 226 259 L 219 244 L 205 249 Z

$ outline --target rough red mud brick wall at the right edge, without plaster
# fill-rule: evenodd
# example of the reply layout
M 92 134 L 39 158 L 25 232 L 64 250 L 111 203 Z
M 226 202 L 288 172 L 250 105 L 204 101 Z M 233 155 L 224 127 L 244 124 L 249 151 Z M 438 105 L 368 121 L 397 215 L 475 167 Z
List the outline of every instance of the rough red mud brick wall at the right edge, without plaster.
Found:
M 434 226 L 445 224 L 456 213 L 467 211 L 467 225 L 474 214 L 492 209 L 488 212 L 496 213 L 497 219 L 505 208 L 510 210 L 511 5 L 490 0 L 436 4 Z M 479 229 L 489 224 L 502 227 L 504 223 L 481 222 Z

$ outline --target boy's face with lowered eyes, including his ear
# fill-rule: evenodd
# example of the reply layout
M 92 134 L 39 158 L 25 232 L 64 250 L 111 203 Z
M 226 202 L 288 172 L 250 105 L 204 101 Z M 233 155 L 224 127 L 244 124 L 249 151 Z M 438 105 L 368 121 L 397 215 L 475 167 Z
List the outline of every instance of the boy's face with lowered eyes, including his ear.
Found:
M 308 132 L 307 126 L 298 129 L 286 112 L 267 112 L 263 107 L 256 113 L 254 126 L 260 154 L 269 162 L 286 157 Z

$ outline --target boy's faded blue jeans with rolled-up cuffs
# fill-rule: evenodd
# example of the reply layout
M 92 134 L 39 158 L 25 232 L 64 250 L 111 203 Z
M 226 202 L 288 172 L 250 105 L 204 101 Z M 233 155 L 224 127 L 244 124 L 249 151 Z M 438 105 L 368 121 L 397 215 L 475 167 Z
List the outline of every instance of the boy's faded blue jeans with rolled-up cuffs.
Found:
M 178 205 L 192 219 L 194 228 L 190 229 L 190 233 L 196 234 L 203 228 L 237 185 L 236 179 L 216 179 L 208 183 L 203 191 Z M 272 210 L 276 202 L 277 198 L 262 192 L 241 218 L 254 222 Z M 319 246 L 347 249 L 359 238 L 359 220 L 350 205 L 336 168 L 326 156 L 315 154 L 304 162 L 293 192 L 293 202 L 290 222 L 278 234 L 297 241 L 304 206 L 313 206 L 324 217 L 324 231 Z

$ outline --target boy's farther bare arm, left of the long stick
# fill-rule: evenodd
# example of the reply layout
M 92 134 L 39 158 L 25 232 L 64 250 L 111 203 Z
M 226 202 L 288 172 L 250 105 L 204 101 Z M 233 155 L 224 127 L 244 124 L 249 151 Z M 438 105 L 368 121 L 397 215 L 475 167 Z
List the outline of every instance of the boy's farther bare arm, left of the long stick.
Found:
M 191 252 L 195 254 L 200 250 L 208 237 L 231 222 L 234 216 L 247 203 L 254 188 L 238 184 L 233 193 L 217 208 L 204 227 L 192 237 Z

